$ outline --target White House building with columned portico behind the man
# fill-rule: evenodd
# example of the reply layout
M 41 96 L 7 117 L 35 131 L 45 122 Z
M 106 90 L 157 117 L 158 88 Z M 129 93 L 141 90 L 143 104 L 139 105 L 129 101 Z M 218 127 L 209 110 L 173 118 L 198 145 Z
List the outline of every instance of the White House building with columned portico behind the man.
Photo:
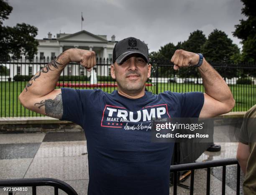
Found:
M 93 50 L 96 52 L 98 58 L 112 58 L 112 52 L 117 41 L 115 41 L 115 35 L 111 37 L 111 40 L 107 40 L 107 35 L 94 35 L 86 30 L 76 32 L 74 34 L 59 33 L 56 38 L 52 37 L 52 34 L 48 33 L 48 38 L 38 40 L 38 61 L 44 57 L 51 59 L 51 57 L 58 56 L 69 48 L 79 48 L 84 50 Z M 111 63 L 110 61 L 108 63 Z M 10 66 L 10 77 L 14 75 L 35 75 L 40 70 L 42 65 L 26 64 L 21 65 L 17 63 Z M 109 75 L 109 66 L 98 66 L 97 72 L 101 75 Z M 82 66 L 73 65 L 66 66 L 64 69 L 64 75 L 87 75 L 90 73 L 85 71 Z

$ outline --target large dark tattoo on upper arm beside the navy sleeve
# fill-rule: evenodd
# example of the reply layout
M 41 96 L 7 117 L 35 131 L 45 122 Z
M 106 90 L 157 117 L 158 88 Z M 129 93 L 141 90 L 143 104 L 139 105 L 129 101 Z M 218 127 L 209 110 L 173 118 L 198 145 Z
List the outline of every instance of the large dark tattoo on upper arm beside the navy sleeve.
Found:
M 54 100 L 42 100 L 40 103 L 35 103 L 35 105 L 39 105 L 38 108 L 44 106 L 46 116 L 60 119 L 63 115 L 63 103 L 61 93 L 57 95 Z

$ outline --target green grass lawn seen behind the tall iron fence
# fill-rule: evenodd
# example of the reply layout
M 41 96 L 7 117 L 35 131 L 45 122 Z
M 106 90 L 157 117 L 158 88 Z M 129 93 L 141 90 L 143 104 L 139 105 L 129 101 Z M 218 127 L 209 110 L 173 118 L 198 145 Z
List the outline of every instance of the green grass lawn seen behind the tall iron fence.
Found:
M 25 81 L 0 82 L 0 117 L 40 116 L 35 112 L 25 109 L 18 100 L 18 95 L 24 89 L 26 83 L 27 82 Z M 159 83 L 158 86 L 154 85 L 147 88 L 148 91 L 151 92 L 156 92 L 156 88 L 158 88 L 158 92 L 163 92 L 166 90 L 172 92 L 204 91 L 203 85 L 186 83 Z M 80 87 L 80 89 L 93 88 Z M 103 91 L 109 93 L 115 89 L 115 87 L 102 88 Z M 230 85 L 230 89 L 236 100 L 236 105 L 233 111 L 246 111 L 251 106 L 256 104 L 256 85 Z

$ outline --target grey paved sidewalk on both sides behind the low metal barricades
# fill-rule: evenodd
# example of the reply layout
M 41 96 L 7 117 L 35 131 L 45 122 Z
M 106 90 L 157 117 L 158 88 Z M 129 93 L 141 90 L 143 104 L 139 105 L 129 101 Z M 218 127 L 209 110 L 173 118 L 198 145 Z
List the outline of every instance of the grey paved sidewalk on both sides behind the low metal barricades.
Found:
M 219 143 L 221 152 L 203 153 L 198 162 L 236 157 L 237 143 Z M 227 167 L 226 195 L 236 194 L 236 166 Z M 211 172 L 211 194 L 221 194 L 222 168 Z M 56 178 L 71 185 L 79 195 L 87 194 L 88 160 L 84 133 L 26 133 L 0 134 L 0 179 Z M 243 177 L 241 177 L 242 183 Z M 190 179 L 184 184 L 189 185 Z M 37 187 L 37 195 L 54 194 L 53 187 Z M 66 194 L 59 190 L 59 194 Z M 0 195 L 7 195 L 0 189 Z M 15 195 L 31 195 L 16 192 Z M 172 188 L 170 188 L 172 194 Z M 189 190 L 178 187 L 178 194 L 189 194 Z M 195 171 L 195 195 L 206 194 L 206 170 Z M 242 194 L 242 193 L 241 193 Z

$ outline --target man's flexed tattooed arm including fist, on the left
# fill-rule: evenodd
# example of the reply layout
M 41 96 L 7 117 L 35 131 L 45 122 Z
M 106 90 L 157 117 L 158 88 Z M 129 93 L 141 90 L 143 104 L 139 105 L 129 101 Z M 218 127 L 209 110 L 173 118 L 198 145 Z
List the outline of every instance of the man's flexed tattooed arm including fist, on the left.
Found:
M 96 65 L 94 51 L 69 49 L 39 70 L 20 93 L 21 104 L 39 114 L 60 119 L 63 115 L 61 89 L 55 89 L 59 76 L 69 62 L 78 62 L 88 71 Z

